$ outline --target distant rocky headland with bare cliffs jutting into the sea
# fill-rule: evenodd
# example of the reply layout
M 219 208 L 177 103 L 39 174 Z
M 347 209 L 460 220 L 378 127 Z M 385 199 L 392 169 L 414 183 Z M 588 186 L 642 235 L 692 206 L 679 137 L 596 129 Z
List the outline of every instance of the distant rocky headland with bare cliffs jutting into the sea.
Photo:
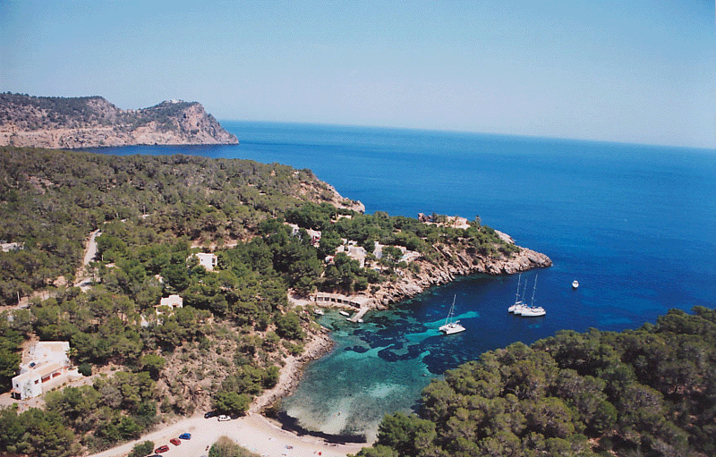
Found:
M 0 146 L 96 148 L 141 144 L 237 144 L 197 102 L 124 110 L 104 97 L 0 94 Z

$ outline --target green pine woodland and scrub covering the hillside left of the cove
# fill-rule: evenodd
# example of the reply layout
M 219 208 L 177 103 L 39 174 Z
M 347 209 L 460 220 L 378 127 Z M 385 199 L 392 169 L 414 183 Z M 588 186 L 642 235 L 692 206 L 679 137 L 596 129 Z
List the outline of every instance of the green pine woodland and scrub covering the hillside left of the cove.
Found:
M 315 331 L 309 313 L 289 307 L 289 289 L 377 287 L 406 267 L 398 247 L 434 263 L 447 261 L 442 245 L 496 255 L 510 249 L 478 224 L 454 229 L 338 209 L 310 171 L 283 165 L 28 148 L 0 148 L 0 165 L 0 239 L 23 246 L 0 252 L 0 302 L 51 292 L 30 300 L 30 309 L 0 314 L 2 388 L 9 390 L 20 344 L 31 336 L 69 341 L 72 362 L 96 374 L 93 385 L 47 394 L 46 410 L 2 410 L 0 453 L 64 455 L 75 444 L 98 451 L 198 407 L 242 414 Z M 297 235 L 285 222 L 300 225 Z M 322 231 L 317 246 L 307 229 Z M 95 230 L 92 287 L 57 282 L 73 283 Z M 370 268 L 345 254 L 327 264 L 345 240 L 369 252 L 378 241 L 385 255 L 369 254 Z M 214 271 L 199 265 L 201 250 L 216 253 Z M 183 297 L 183 308 L 155 309 L 170 294 Z M 38 432 L 63 443 L 57 453 L 25 437 L 35 434 L 36 420 L 61 425 L 55 435 Z

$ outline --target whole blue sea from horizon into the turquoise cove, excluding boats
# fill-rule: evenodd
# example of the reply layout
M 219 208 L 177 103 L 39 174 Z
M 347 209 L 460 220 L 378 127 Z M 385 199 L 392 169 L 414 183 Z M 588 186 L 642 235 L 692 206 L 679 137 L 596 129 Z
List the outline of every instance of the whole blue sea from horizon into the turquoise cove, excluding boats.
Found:
M 716 307 L 716 150 L 338 125 L 222 122 L 240 144 L 90 149 L 309 168 L 366 213 L 480 217 L 554 265 L 434 287 L 362 324 L 320 317 L 335 348 L 277 408 L 286 427 L 371 441 L 386 414 L 484 351 L 561 330 L 636 329 Z M 574 289 L 572 282 L 579 287 Z M 519 284 L 519 292 L 518 292 Z M 516 297 L 547 310 L 516 317 Z M 466 331 L 443 335 L 448 309 Z

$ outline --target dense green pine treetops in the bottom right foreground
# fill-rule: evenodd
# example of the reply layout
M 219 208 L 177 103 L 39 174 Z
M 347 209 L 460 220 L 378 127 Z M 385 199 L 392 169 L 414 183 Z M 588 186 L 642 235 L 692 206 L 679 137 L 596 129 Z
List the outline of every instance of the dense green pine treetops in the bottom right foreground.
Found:
M 563 331 L 447 371 L 359 456 L 713 455 L 716 311 Z

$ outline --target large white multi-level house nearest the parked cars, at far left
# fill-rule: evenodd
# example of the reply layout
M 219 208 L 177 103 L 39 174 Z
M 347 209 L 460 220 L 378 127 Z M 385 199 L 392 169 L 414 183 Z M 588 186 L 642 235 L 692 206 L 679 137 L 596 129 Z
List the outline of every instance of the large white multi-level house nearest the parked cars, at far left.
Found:
M 13 377 L 11 395 L 15 400 L 25 400 L 44 394 L 61 385 L 70 376 L 81 376 L 70 368 L 67 351 L 70 343 L 39 342 L 22 354 L 20 374 Z

